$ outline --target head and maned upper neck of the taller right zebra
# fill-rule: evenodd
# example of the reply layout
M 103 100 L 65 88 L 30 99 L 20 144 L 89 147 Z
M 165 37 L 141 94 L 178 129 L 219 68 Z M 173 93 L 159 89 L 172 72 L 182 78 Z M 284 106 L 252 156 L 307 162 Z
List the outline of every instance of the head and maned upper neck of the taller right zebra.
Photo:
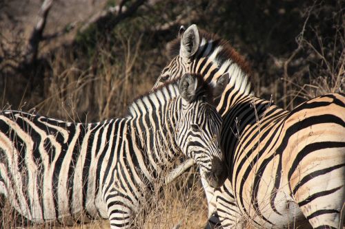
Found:
M 207 82 L 215 82 L 228 73 L 230 85 L 236 85 L 246 94 L 250 93 L 247 76 L 250 67 L 227 41 L 216 34 L 198 30 L 197 25 L 190 25 L 186 30 L 181 26 L 178 38 L 169 46 L 170 56 L 175 57 L 161 71 L 154 88 L 186 72 L 201 74 Z

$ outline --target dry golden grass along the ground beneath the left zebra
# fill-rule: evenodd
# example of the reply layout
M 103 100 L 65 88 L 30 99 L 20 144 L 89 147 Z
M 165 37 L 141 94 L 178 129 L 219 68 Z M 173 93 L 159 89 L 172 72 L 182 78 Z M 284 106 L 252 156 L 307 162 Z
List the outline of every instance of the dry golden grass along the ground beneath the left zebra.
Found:
M 134 217 L 135 228 L 203 228 L 207 221 L 207 203 L 204 190 L 199 181 L 197 171 L 190 171 L 178 177 L 174 182 L 163 185 L 160 192 L 154 193 L 152 198 L 144 201 Z M 158 190 L 162 184 L 157 182 Z M 0 216 L 0 228 L 17 228 L 28 225 L 25 219 L 18 217 L 11 210 L 8 201 L 4 201 Z M 83 221 L 81 219 L 81 221 Z M 28 226 L 30 229 L 39 228 L 110 228 L 108 219 L 95 220 L 86 224 L 75 226 L 54 226 L 54 223 L 46 225 Z

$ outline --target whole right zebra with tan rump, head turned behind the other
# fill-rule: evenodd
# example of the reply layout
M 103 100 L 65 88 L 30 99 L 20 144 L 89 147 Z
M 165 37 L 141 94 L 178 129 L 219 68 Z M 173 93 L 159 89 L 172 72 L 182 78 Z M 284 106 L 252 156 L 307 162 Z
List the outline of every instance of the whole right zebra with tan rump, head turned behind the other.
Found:
M 224 186 L 206 190 L 209 224 L 261 228 L 339 228 L 345 199 L 345 97 L 329 94 L 293 111 L 255 98 L 248 67 L 228 43 L 191 25 L 170 45 L 175 54 L 155 87 L 178 74 L 230 80 L 217 100 L 221 149 L 229 166 Z M 224 80 L 221 78 L 221 80 Z M 217 208 L 217 212 L 216 212 Z M 212 217 L 211 217 L 212 215 Z

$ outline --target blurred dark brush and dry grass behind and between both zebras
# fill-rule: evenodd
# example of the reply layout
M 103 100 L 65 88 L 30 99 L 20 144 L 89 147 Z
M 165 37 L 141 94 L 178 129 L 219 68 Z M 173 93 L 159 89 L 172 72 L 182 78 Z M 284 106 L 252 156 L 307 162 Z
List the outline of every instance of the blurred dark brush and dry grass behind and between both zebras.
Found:
M 80 122 L 124 115 L 170 60 L 180 25 L 192 23 L 229 41 L 252 68 L 256 96 L 280 107 L 344 92 L 344 1 L 2 0 L 1 109 Z M 146 228 L 206 223 L 201 186 L 175 187 Z

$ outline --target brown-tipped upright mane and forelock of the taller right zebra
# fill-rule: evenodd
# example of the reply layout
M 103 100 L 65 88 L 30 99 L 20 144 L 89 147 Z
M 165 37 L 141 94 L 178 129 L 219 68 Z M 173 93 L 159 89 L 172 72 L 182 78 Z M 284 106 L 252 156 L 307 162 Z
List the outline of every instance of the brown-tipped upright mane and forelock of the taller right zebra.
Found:
M 221 39 L 217 34 L 211 34 L 204 30 L 199 30 L 199 36 L 199 49 L 208 44 L 212 45 L 211 50 L 207 54 L 203 55 L 213 58 L 213 61 L 219 65 L 219 68 L 227 68 L 227 72 L 230 74 L 229 84 L 231 86 L 239 89 L 239 91 L 242 91 L 244 94 L 250 94 L 251 71 L 249 64 L 244 60 L 244 58 L 233 49 L 228 41 Z M 168 54 L 170 57 L 179 55 L 180 43 L 181 39 L 177 38 L 168 44 Z M 197 54 L 199 54 L 199 52 L 197 52 Z M 233 63 L 235 63 L 235 65 Z

